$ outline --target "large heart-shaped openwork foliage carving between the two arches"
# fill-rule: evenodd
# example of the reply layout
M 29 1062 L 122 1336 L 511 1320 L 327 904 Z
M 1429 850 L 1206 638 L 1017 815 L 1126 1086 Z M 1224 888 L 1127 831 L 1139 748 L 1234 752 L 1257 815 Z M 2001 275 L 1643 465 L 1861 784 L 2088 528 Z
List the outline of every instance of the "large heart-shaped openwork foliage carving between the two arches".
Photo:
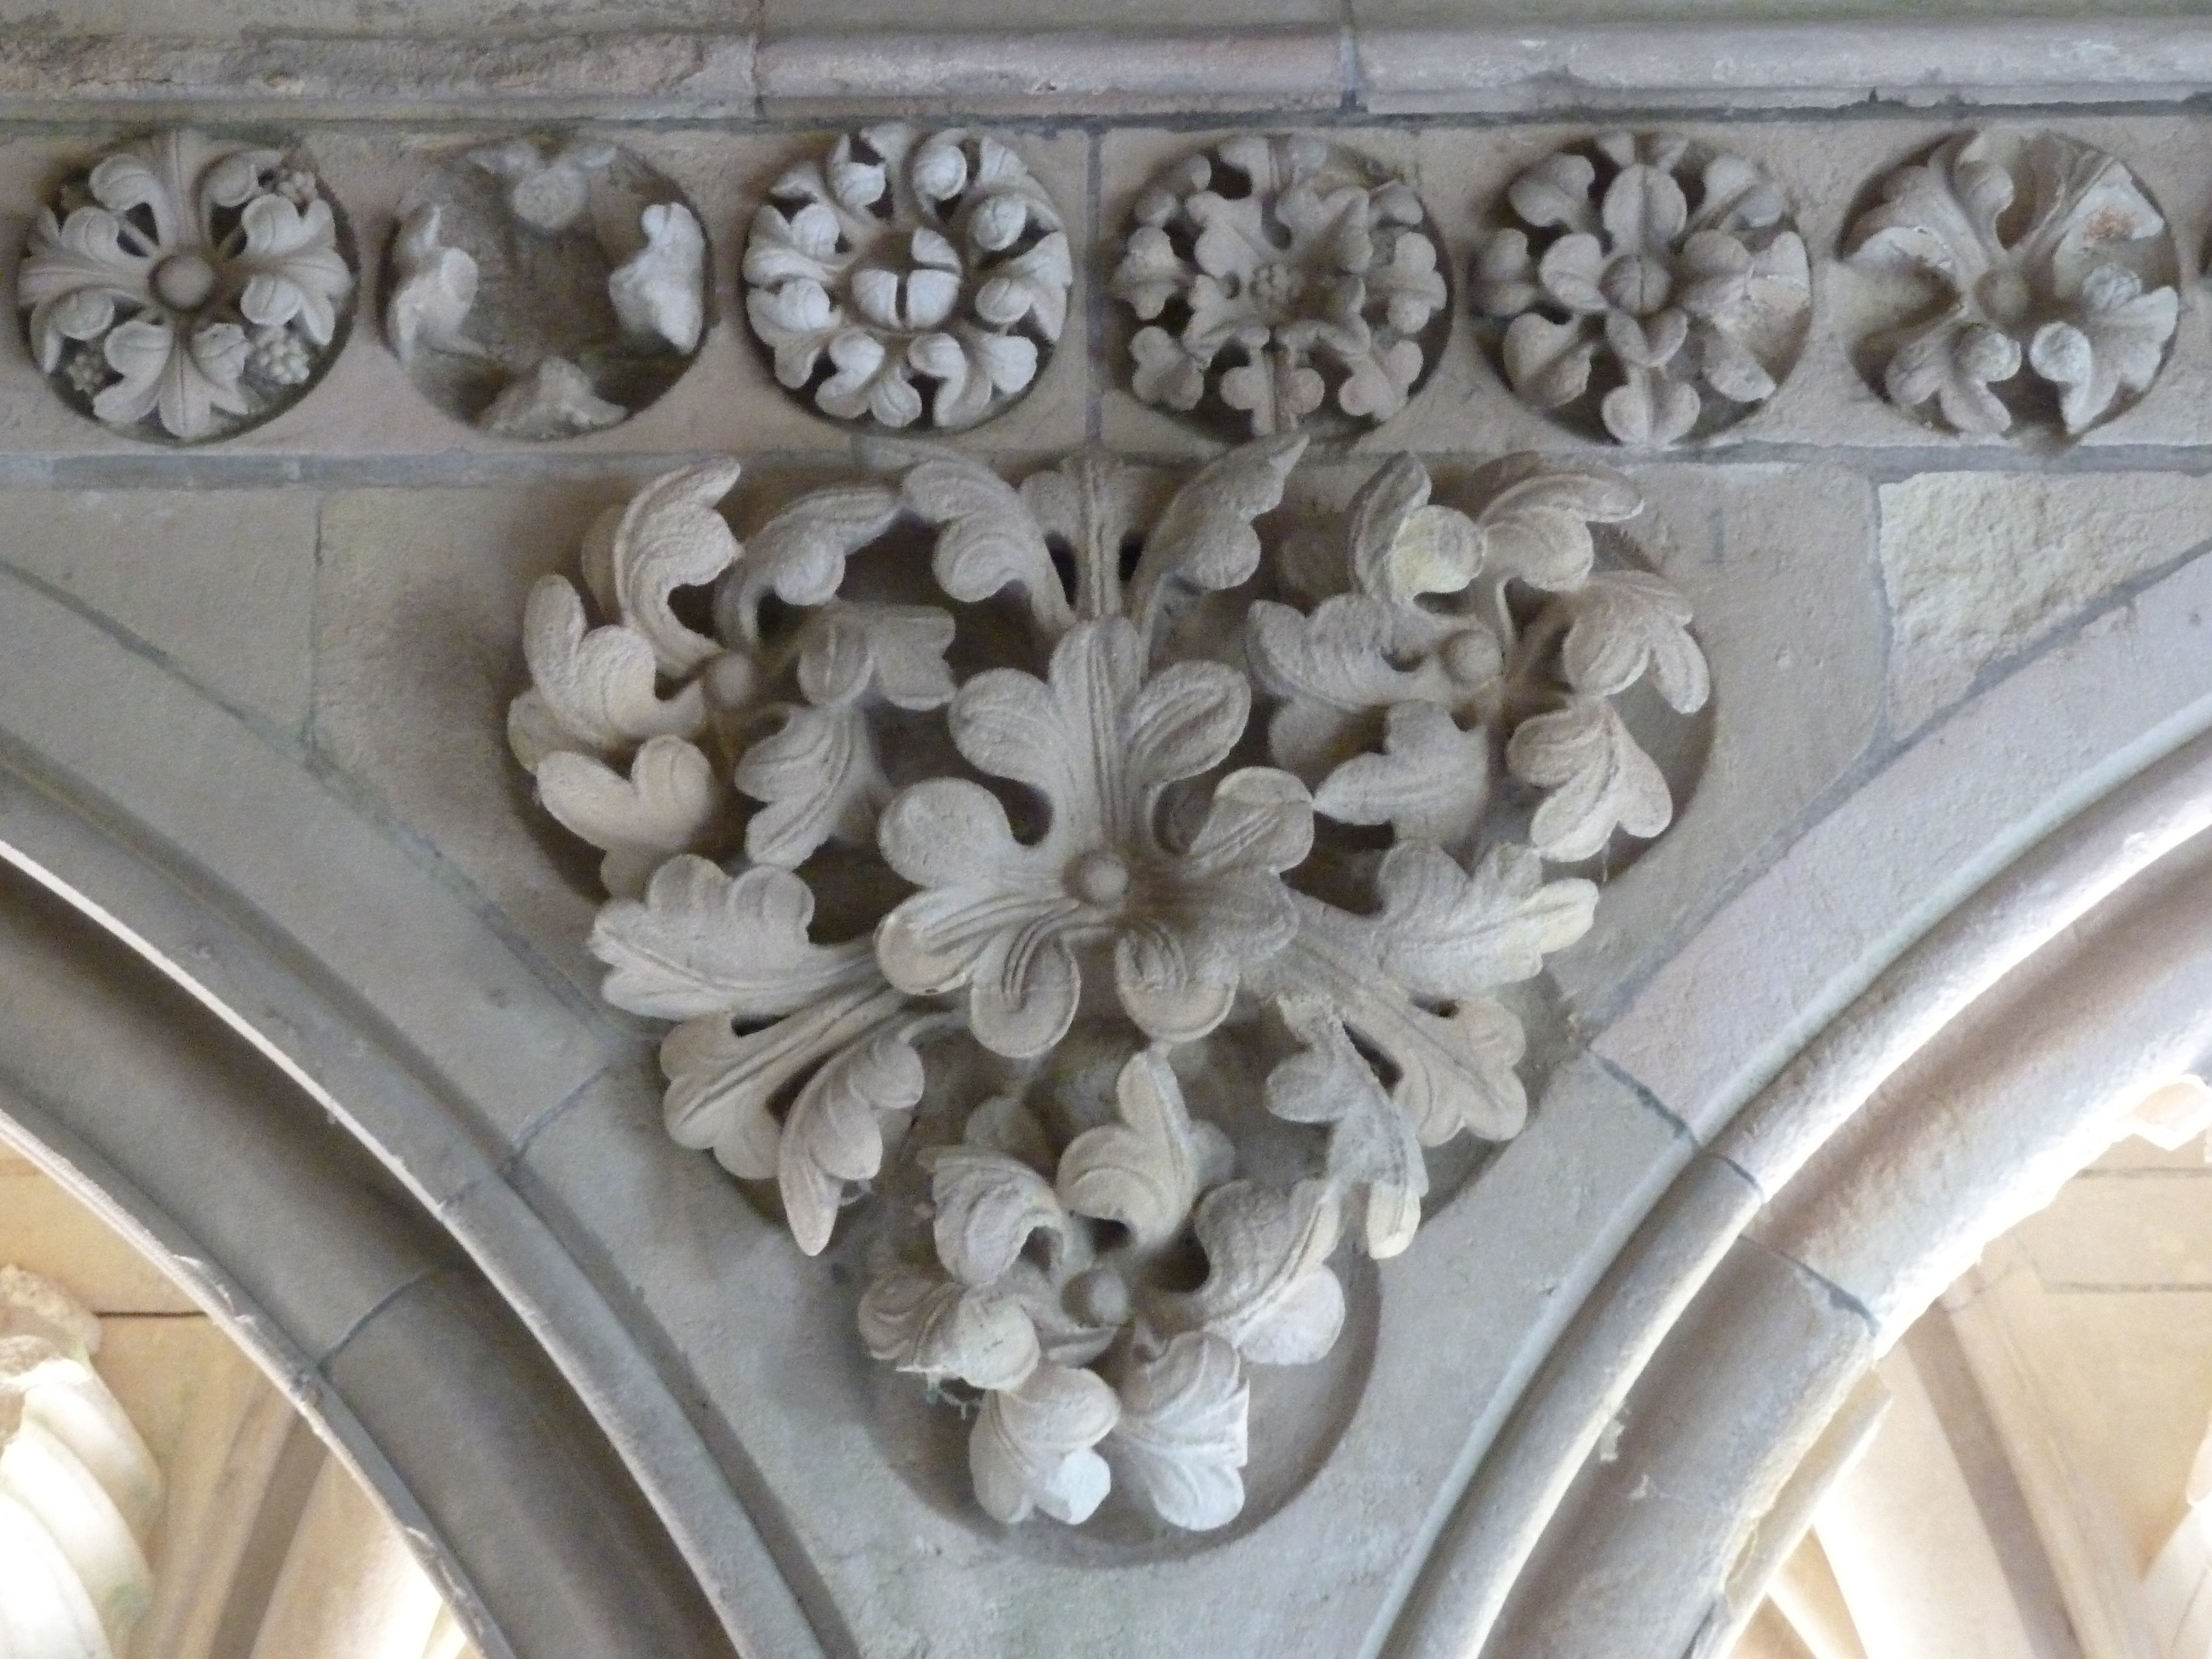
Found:
M 1681 597 L 1599 564 L 1628 480 L 1462 511 L 1400 456 L 1276 513 L 1303 447 L 914 451 L 743 540 L 719 462 L 524 615 L 509 734 L 606 854 L 606 998 L 677 1022 L 670 1133 L 810 1254 L 876 1192 L 860 1336 L 973 1411 L 1002 1522 L 1237 1515 L 1340 1239 L 1405 1250 L 1427 1148 L 1522 1126 L 1500 993 L 1597 902 L 1544 860 L 1672 814 L 1615 699 L 1705 701 Z

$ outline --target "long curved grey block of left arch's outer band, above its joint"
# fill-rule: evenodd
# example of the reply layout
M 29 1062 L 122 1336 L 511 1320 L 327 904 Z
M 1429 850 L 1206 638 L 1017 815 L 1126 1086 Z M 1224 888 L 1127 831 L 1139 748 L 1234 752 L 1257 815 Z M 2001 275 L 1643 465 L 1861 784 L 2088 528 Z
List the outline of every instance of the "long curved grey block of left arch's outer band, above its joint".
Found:
M 504 1139 L 599 1068 L 604 1026 L 582 1000 L 557 995 L 544 969 L 518 958 L 453 883 L 403 849 L 358 796 L 310 772 L 296 748 L 272 745 L 4 571 L 0 657 L 9 664 L 0 730 L 13 750 L 93 792 L 102 823 L 131 843 L 190 849 L 195 887 L 374 1004 L 380 1042 L 396 1037 L 434 1066 L 476 1133 Z M 181 854 L 150 856 L 173 869 L 168 860 Z M 215 947 L 186 933 L 175 949 Z M 314 1033 L 259 995 L 250 1018 L 312 1046 Z M 352 1055 L 343 1046 L 332 1064 Z M 480 1168 L 482 1155 L 451 1117 L 414 1117 L 418 1104 L 420 1093 L 356 1102 L 389 1113 L 376 1135 L 420 1190 L 440 1192 Z

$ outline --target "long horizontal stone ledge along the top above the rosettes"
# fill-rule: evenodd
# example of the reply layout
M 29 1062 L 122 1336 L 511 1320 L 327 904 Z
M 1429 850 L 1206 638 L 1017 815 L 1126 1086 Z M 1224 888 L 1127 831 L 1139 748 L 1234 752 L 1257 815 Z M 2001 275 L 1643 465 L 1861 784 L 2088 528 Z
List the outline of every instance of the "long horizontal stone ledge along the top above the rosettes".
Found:
M 361 115 L 774 122 L 1354 111 L 2174 102 L 2212 18 L 0 40 L 0 117 L 226 106 Z

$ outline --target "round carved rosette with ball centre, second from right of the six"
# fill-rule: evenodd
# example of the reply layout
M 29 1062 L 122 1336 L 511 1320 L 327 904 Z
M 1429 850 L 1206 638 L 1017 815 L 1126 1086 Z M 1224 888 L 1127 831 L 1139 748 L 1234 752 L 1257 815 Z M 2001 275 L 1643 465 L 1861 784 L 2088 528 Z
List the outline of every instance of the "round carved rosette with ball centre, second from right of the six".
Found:
M 1774 179 L 1670 133 L 1546 155 L 1491 210 L 1475 312 L 1524 403 L 1670 445 L 1743 420 L 1805 345 L 1812 279 Z

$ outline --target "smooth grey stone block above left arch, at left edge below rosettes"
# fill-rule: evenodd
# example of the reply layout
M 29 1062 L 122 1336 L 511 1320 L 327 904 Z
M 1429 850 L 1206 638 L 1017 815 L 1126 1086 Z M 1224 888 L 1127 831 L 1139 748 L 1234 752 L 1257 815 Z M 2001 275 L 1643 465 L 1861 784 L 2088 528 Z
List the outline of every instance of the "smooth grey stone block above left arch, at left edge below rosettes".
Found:
M 0 560 L 144 641 L 210 695 L 307 717 L 316 498 L 281 491 L 0 491 Z

